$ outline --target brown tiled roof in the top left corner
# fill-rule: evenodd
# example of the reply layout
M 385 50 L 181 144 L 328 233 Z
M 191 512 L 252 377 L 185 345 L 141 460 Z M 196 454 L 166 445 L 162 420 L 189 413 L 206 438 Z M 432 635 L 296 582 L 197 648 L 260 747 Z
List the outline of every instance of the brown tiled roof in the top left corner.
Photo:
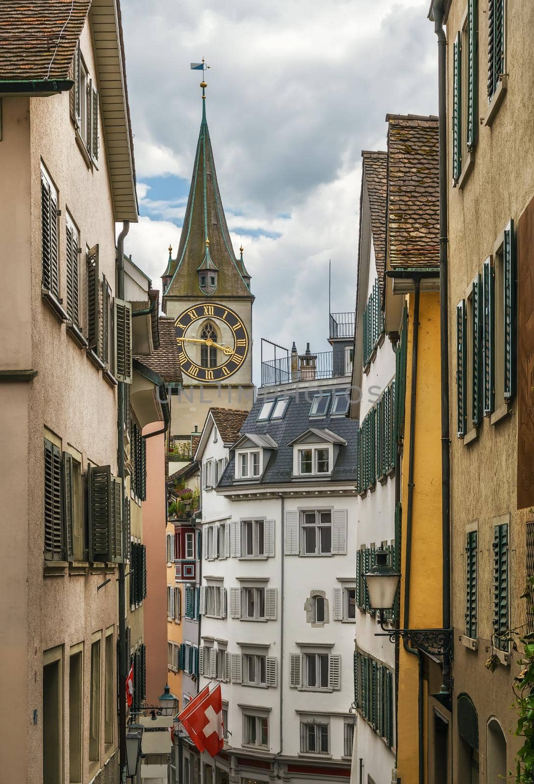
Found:
M 67 79 L 91 0 L 0 0 L 0 80 Z

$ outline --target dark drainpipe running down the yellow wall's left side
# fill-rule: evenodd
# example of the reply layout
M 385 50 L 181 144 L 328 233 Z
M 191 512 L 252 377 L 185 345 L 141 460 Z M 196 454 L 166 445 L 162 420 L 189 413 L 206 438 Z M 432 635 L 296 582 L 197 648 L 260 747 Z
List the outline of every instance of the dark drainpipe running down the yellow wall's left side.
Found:
M 412 340 L 412 379 L 410 388 L 410 430 L 409 430 L 409 461 L 408 461 L 408 502 L 406 504 L 406 557 L 405 557 L 405 590 L 404 590 L 404 626 L 409 629 L 410 619 L 410 574 L 412 569 L 412 518 L 413 518 L 413 470 L 414 450 L 416 445 L 416 391 L 417 391 L 417 358 L 419 349 L 419 302 L 420 278 L 414 278 L 416 293 L 413 303 L 413 340 Z M 419 784 L 424 784 L 423 760 L 423 660 L 416 648 L 410 648 L 405 637 L 402 644 L 407 653 L 417 657 L 419 665 L 419 692 L 417 713 L 419 723 Z

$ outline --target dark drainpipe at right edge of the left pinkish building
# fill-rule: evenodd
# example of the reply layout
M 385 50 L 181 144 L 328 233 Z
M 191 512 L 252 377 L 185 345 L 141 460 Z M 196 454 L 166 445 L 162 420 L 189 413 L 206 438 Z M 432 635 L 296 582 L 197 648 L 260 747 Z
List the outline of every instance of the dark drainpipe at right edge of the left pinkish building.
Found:
M 117 238 L 117 296 L 124 299 L 124 240 L 129 232 L 129 221 L 122 223 L 122 231 Z M 122 519 L 125 519 L 125 455 L 124 455 L 124 382 L 117 388 L 117 442 L 118 475 L 122 479 Z M 122 527 L 122 552 L 125 553 L 125 530 Z M 126 676 L 128 652 L 126 651 L 126 570 L 124 558 L 118 564 L 118 753 L 119 770 L 122 784 L 126 782 Z

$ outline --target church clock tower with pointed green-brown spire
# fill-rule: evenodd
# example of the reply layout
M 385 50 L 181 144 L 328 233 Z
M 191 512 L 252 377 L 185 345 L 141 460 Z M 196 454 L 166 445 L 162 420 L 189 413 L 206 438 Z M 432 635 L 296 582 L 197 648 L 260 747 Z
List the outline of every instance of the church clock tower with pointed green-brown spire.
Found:
M 236 257 L 213 160 L 202 87 L 202 122 L 178 251 L 162 275 L 163 310 L 172 319 L 183 386 L 172 390 L 176 441 L 202 426 L 210 407 L 249 410 L 252 302 L 243 249 Z

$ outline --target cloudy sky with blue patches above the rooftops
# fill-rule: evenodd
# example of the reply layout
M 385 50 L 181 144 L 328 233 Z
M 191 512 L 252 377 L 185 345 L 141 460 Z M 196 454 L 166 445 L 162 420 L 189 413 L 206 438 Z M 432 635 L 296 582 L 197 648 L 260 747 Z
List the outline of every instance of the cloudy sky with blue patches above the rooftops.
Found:
M 139 223 L 125 252 L 161 289 L 176 254 L 206 113 L 228 227 L 252 276 L 260 339 L 328 350 L 354 310 L 361 150 L 386 114 L 437 114 L 429 0 L 127 0 L 122 3 Z

